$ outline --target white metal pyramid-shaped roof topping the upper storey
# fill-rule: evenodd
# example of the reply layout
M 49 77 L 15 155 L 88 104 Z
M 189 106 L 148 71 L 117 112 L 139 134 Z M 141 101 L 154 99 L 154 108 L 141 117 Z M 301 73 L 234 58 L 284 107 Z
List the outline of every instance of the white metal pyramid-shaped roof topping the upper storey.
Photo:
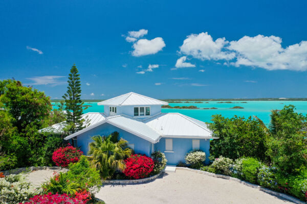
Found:
M 146 106 L 146 105 L 168 105 L 168 103 L 150 98 L 134 92 L 126 93 L 98 103 L 98 105 L 108 106 Z

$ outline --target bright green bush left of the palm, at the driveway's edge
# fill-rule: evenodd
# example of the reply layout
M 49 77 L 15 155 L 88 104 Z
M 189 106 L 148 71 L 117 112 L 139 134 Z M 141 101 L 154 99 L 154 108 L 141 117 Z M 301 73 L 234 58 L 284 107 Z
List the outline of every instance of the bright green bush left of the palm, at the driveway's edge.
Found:
M 86 189 L 92 194 L 99 191 L 102 185 L 99 171 L 90 167 L 90 162 L 81 156 L 77 163 L 71 163 L 67 172 L 68 180 L 79 184 L 79 188 Z

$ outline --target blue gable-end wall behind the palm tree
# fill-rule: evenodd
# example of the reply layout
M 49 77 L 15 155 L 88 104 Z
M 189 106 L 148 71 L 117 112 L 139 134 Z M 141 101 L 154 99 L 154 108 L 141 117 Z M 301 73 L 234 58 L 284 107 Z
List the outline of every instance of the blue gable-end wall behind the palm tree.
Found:
M 98 127 L 95 127 L 94 129 L 89 130 L 77 136 L 77 145 L 81 147 L 81 151 L 83 151 L 83 154 L 87 155 L 87 151 L 89 151 L 89 143 L 93 141 L 91 139 L 93 136 L 95 135 L 107 136 L 115 131 L 119 132 L 119 136 L 127 140 L 128 143 L 134 144 L 136 154 L 145 154 L 147 156 L 150 156 L 152 149 L 151 142 L 144 140 L 138 136 L 135 136 L 131 133 L 128 133 L 126 131 L 123 131 L 118 127 L 115 127 L 108 123 L 99 125 Z

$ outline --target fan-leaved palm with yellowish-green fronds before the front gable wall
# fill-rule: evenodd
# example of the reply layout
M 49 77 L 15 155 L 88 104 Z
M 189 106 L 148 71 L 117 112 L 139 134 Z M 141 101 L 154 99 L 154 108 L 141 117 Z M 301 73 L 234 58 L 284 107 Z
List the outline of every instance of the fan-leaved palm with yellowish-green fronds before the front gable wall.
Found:
M 125 157 L 131 155 L 131 149 L 125 148 L 127 141 L 120 139 L 112 142 L 112 135 L 108 137 L 94 136 L 90 143 L 89 160 L 92 166 L 100 171 L 103 180 L 109 179 L 116 170 L 123 171 L 126 166 Z

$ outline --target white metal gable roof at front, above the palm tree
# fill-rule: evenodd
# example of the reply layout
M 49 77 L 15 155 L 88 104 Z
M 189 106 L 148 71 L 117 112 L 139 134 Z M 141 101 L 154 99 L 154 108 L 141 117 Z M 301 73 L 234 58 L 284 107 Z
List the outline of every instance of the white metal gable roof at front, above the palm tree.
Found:
M 94 125 L 90 125 L 85 129 L 82 129 L 72 135 L 65 137 L 64 139 L 69 140 L 104 123 L 112 124 L 124 131 L 127 131 L 128 133 L 139 136 L 140 138 L 143 138 L 152 143 L 156 143 L 161 136 L 161 133 L 151 129 L 151 127 L 149 127 L 148 125 L 137 119 L 131 118 L 126 115 L 117 115 L 117 116 L 108 117 L 105 120 L 95 123 Z

